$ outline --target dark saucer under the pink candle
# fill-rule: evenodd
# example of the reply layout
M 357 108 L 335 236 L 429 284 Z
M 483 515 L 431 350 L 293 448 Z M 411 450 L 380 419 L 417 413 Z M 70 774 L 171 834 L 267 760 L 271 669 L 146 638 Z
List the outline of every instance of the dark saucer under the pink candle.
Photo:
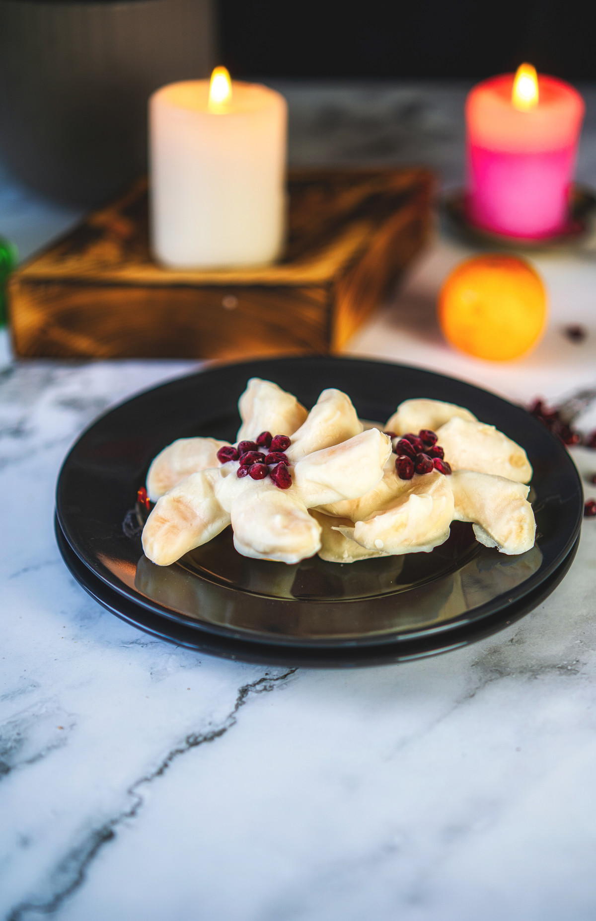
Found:
M 497 246 L 499 249 L 534 252 L 579 247 L 592 234 L 595 211 L 596 192 L 588 186 L 574 184 L 571 190 L 569 222 L 565 230 L 544 239 L 528 239 L 494 233 L 473 224 L 465 212 L 464 189 L 447 192 L 441 199 L 441 213 L 447 217 L 449 227 L 466 242 L 493 248 Z

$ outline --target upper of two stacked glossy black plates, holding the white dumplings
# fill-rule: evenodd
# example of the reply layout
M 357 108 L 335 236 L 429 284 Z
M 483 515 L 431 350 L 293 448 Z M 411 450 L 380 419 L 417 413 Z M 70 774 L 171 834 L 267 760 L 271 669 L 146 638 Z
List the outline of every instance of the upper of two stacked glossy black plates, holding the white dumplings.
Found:
M 477 543 L 471 525 L 456 522 L 449 541 L 431 554 L 351 565 L 315 557 L 287 566 L 236 554 L 227 530 L 178 564 L 153 565 L 133 533 L 140 530 L 134 499 L 150 461 L 177 437 L 234 440 L 236 402 L 250 377 L 275 380 L 307 406 L 324 388 L 338 387 L 362 418 L 380 421 L 408 397 L 467 406 L 528 453 L 535 547 L 505 556 Z M 99 418 L 64 461 L 56 510 L 66 542 L 116 597 L 219 637 L 210 642 L 260 644 L 261 660 L 269 661 L 266 647 L 343 649 L 352 658 L 355 647 L 398 638 L 439 648 L 451 642 L 452 631 L 466 625 L 477 631 L 480 622 L 524 599 L 523 612 L 531 610 L 527 604 L 561 572 L 577 540 L 583 496 L 567 450 L 521 407 L 417 368 L 314 356 L 212 367 L 123 403 Z M 204 643 L 204 637 L 197 641 Z

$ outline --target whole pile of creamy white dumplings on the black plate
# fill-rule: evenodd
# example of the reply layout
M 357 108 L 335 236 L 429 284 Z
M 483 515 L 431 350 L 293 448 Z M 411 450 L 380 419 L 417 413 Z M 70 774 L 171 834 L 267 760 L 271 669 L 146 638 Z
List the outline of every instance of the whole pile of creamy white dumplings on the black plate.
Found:
M 238 442 L 264 431 L 290 437 L 292 485 L 239 478 L 238 461 L 217 459 L 226 441 L 179 438 L 147 474 L 155 507 L 143 528 L 143 551 L 155 564 L 176 562 L 230 524 L 239 554 L 287 564 L 315 554 L 355 563 L 429 553 L 447 540 L 452 521 L 471 521 L 476 540 L 503 554 L 533 547 L 525 451 L 461 406 L 407 400 L 382 429 L 362 424 L 341 391 L 323 391 L 308 412 L 277 384 L 253 378 L 238 408 Z M 451 475 L 398 477 L 385 433 L 419 429 L 436 432 Z

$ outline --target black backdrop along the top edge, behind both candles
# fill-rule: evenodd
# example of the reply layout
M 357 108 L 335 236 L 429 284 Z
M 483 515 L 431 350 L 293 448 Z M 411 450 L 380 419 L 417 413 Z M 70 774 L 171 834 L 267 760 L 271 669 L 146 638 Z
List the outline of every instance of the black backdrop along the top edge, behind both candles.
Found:
M 218 0 L 235 76 L 596 78 L 594 0 Z

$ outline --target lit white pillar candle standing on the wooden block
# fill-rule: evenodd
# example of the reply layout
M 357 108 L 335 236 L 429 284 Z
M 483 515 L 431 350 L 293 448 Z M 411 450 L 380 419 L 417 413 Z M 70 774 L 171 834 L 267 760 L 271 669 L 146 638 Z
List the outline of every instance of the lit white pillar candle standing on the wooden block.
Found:
M 227 83 L 226 83 L 227 78 Z M 211 81 L 149 100 L 151 236 L 168 267 L 273 262 L 285 222 L 286 101 L 258 84 Z

